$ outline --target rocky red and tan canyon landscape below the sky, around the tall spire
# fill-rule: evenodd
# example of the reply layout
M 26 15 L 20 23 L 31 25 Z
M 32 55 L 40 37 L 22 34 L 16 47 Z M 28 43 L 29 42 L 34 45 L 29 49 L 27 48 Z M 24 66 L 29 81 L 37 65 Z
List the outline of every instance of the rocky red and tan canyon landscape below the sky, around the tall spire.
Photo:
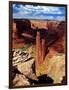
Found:
M 21 27 L 20 36 L 18 25 Z M 13 86 L 61 83 L 65 77 L 65 22 L 59 21 L 17 21 L 13 22 Z M 24 25 L 24 26 L 23 26 Z M 27 26 L 27 27 L 26 27 Z M 36 32 L 40 32 L 41 64 L 36 68 Z M 35 32 L 35 33 L 33 33 Z M 23 36 L 22 36 L 23 35 Z M 32 38 L 35 37 L 32 42 Z M 44 40 L 45 42 L 43 43 Z M 29 45 L 30 44 L 30 45 Z M 37 45 L 37 46 L 40 46 Z M 25 49 L 23 49 L 25 47 Z M 37 47 L 39 48 L 39 47 Z M 38 51 L 40 51 L 40 49 Z M 40 61 L 38 58 L 38 62 Z M 40 62 L 39 62 L 40 63 Z

